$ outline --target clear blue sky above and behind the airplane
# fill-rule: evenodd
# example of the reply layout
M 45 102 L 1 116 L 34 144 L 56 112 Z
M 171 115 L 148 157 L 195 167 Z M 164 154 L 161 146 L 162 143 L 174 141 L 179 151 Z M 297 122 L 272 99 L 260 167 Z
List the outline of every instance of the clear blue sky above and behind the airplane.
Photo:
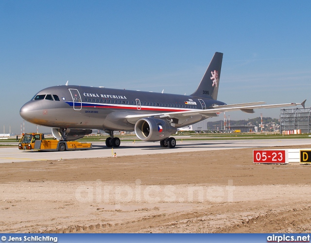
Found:
M 310 9 L 308 0 L 1 0 L 0 133 L 20 133 L 20 107 L 67 80 L 190 94 L 214 52 L 224 53 L 218 100 L 310 107 Z M 227 115 L 261 112 L 279 118 L 279 109 Z

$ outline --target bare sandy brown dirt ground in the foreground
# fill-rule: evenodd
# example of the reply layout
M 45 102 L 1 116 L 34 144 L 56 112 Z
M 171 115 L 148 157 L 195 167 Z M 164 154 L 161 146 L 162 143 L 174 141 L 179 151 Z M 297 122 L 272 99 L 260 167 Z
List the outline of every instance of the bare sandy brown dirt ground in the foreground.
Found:
M 0 232 L 309 233 L 310 165 L 252 151 L 0 164 Z

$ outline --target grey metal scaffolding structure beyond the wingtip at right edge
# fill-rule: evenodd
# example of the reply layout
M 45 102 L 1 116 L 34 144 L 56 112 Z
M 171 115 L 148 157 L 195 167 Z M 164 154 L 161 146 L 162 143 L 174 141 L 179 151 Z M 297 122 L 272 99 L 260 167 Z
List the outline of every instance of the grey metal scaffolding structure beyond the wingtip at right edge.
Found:
M 311 132 L 311 107 L 280 110 L 280 133 L 296 129 L 301 133 Z

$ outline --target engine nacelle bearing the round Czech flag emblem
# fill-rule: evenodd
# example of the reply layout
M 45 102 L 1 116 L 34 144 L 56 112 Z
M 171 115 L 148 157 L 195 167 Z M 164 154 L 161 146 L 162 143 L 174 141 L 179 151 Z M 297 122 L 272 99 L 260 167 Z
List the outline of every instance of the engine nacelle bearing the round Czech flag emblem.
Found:
M 160 141 L 177 132 L 168 121 L 154 118 L 142 118 L 135 124 L 135 133 L 143 141 Z

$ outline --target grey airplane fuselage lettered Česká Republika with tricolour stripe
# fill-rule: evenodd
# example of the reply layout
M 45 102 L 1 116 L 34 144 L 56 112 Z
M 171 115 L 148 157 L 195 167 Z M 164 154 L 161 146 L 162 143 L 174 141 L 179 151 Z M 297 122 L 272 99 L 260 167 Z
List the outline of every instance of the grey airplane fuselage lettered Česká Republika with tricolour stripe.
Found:
M 200 97 L 113 89 L 55 86 L 39 91 L 20 115 L 38 125 L 108 131 L 134 131 L 127 115 L 204 110 L 225 103 Z M 176 127 L 206 119 L 192 116 Z

